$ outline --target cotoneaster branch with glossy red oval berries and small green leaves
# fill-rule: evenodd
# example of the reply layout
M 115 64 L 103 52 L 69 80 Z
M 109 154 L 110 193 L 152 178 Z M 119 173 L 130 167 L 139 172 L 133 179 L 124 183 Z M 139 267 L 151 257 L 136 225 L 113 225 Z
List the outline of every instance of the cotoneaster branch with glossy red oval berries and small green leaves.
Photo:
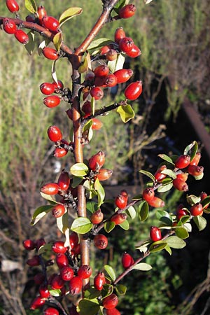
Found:
M 51 214 L 63 239 L 58 240 L 55 235 L 50 242 L 44 239 L 23 241 L 25 249 L 33 251 L 26 261 L 27 265 L 38 270 L 34 276 L 34 283 L 38 286 L 37 296 L 31 297 L 29 308 L 42 309 L 45 315 L 119 315 L 120 300 L 127 290 L 122 283 L 123 278 L 133 269 L 140 272 L 152 269 L 151 265 L 142 262 L 148 255 L 162 250 L 172 255 L 172 248 L 186 246 L 185 239 L 192 230 L 191 221 L 199 230 L 207 225 L 203 214 L 210 212 L 210 196 L 206 193 L 202 192 L 199 196 L 188 193 L 186 204 L 179 204 L 173 213 L 167 211 L 161 198 L 161 193 L 171 189 L 190 190 L 186 183 L 190 176 L 202 179 L 204 168 L 199 165 L 201 154 L 196 141 L 186 146 L 180 156 L 159 155 L 162 162 L 154 175 L 140 170 L 148 176 L 146 186 L 139 187 L 137 196 L 129 196 L 126 190 L 121 190 L 112 201 L 112 210 L 108 214 L 102 211 L 106 194 L 101 182 L 108 180 L 113 170 L 106 169 L 106 153 L 99 151 L 83 157 L 84 146 L 91 145 L 94 133 L 103 128 L 105 114 L 115 110 L 123 123 L 134 118 L 130 101 L 139 99 L 144 88 L 144 78 L 134 81 L 132 69 L 124 68 L 125 57 L 141 55 L 129 32 L 118 27 L 113 38 L 106 38 L 106 41 L 104 38 L 95 39 L 108 22 L 132 18 L 138 7 L 129 2 L 99 1 L 102 13 L 95 23 L 93 21 L 94 26 L 80 41 L 78 48 L 64 42 L 62 25 L 80 15 L 83 12 L 80 7 L 64 10 L 57 19 L 35 0 L 26 0 L 25 7 L 30 15 L 24 18 L 18 1 L 6 0 L 8 14 L 13 16 L 0 17 L 5 34 L 15 36 L 30 53 L 36 46 L 36 36 L 41 36 L 39 55 L 52 61 L 52 82 L 44 81 L 40 85 L 40 91 L 45 95 L 43 104 L 49 111 L 62 106 L 71 125 L 68 140 L 62 138 L 66 122 L 62 126 L 62 120 L 58 120 L 59 127 L 46 126 L 46 137 L 55 145 L 55 159 L 71 154 L 74 163 L 62 170 L 57 182 L 52 179 L 50 183 L 43 183 L 40 193 L 45 202 L 34 211 L 31 219 L 31 225 L 35 225 L 43 216 Z M 72 69 L 69 78 L 71 90 L 57 78 L 58 62 Z M 130 83 L 127 83 L 128 80 Z M 103 104 L 99 108 L 97 101 L 103 99 L 104 90 L 117 84 L 125 84 L 125 96 L 118 103 Z M 129 253 L 124 252 L 121 256 L 123 272 L 114 270 L 111 265 L 103 265 L 103 262 L 100 270 L 92 268 L 90 246 L 94 246 L 95 251 L 106 252 L 109 239 L 115 235 L 116 225 L 130 230 L 132 221 L 144 223 L 149 211 L 155 211 L 159 225 L 151 226 L 148 239 L 139 239 L 141 245 L 136 248 L 139 253 L 135 254 L 137 258 L 134 260 L 134 253 L 127 248 Z M 52 265 L 53 269 L 50 268 Z

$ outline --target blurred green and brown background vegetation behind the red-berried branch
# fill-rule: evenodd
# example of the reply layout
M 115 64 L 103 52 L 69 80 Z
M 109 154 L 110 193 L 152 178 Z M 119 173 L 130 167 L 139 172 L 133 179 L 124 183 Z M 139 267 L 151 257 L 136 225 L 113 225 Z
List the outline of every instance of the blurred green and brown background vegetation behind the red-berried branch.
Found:
M 82 15 L 62 27 L 64 41 L 75 48 L 85 38 L 86 31 L 91 29 L 101 12 L 102 3 L 99 0 L 88 0 L 88 5 L 87 0 L 70 2 L 56 1 L 55 5 L 55 1 L 36 1 L 38 5 L 45 6 L 48 15 L 55 18 L 59 18 L 69 6 L 83 8 Z M 135 69 L 132 79 L 141 79 L 144 84 L 143 94 L 132 105 L 137 113 L 134 120 L 124 125 L 116 112 L 100 118 L 104 127 L 94 132 L 94 140 L 85 147 L 87 159 L 99 150 L 105 151 L 106 167 L 114 170 L 111 181 L 106 185 L 116 185 L 116 189 L 111 188 L 111 197 L 118 194 L 119 186 L 128 184 L 136 193 L 140 193 L 145 179 L 139 176 L 139 169 L 157 168 L 160 162 L 157 154 L 162 151 L 181 152 L 183 147 L 176 146 L 167 132 L 173 123 L 174 138 L 182 137 L 177 117 L 185 97 L 197 106 L 209 128 L 208 2 L 153 0 L 145 5 L 143 0 L 134 0 L 132 3 L 137 5 L 134 18 L 110 23 L 100 31 L 100 37 L 113 39 L 116 28 L 123 25 L 127 36 L 134 38 L 142 52 L 141 57 L 126 59 L 125 62 L 127 68 Z M 20 16 L 24 18 L 28 14 L 23 9 L 25 1 L 18 3 L 21 6 Z M 4 1 L 0 3 L 0 15 L 10 16 Z M 52 158 L 54 147 L 48 140 L 46 130 L 56 123 L 62 129 L 64 139 L 68 139 L 71 122 L 65 113 L 68 109 L 66 104 L 62 103 L 51 110 L 43 106 L 39 85 L 52 80 L 50 60 L 38 56 L 36 51 L 29 56 L 13 36 L 1 30 L 0 38 L 0 258 L 1 262 L 17 262 L 12 272 L 1 272 L 0 305 L 3 307 L 0 306 L 0 314 L 25 315 L 30 314 L 28 307 L 36 293 L 32 288 L 33 272 L 25 267 L 31 253 L 23 250 L 22 240 L 45 237 L 49 241 L 60 237 L 56 235 L 50 216 L 33 228 L 29 227 L 29 223 L 34 209 L 43 204 L 38 193 L 42 183 L 56 181 L 61 169 L 73 162 L 71 155 L 60 160 Z M 40 41 L 41 36 L 37 36 L 37 43 Z M 71 66 L 66 59 L 57 62 L 57 77 L 65 87 L 71 87 Z M 98 108 L 120 100 L 124 88 L 125 85 L 119 87 L 117 94 L 108 90 L 106 98 L 97 102 Z M 169 211 L 174 211 L 179 199 L 180 194 L 169 195 Z M 148 238 L 148 229 L 154 224 L 155 215 L 151 213 L 146 224 L 136 221 L 129 232 L 116 228 L 115 237 L 109 251 L 103 253 L 104 257 L 102 253 L 97 256 L 99 254 L 92 248 L 95 268 L 100 269 L 104 259 L 120 272 L 123 251 L 130 248 L 133 255 L 137 255 L 134 246 Z M 163 253 L 147 258 L 147 262 L 153 265 L 151 272 L 134 271 L 125 279 L 128 290 L 120 304 L 122 314 L 209 314 L 209 297 L 206 293 L 200 300 L 198 295 L 198 301 L 192 297 L 187 306 L 182 304 L 193 288 L 197 292 L 197 283 L 207 276 L 208 233 L 197 235 L 195 232 L 192 239 L 188 241 L 188 248 L 179 253 L 174 251 L 172 258 Z M 208 282 L 205 285 L 209 288 Z

